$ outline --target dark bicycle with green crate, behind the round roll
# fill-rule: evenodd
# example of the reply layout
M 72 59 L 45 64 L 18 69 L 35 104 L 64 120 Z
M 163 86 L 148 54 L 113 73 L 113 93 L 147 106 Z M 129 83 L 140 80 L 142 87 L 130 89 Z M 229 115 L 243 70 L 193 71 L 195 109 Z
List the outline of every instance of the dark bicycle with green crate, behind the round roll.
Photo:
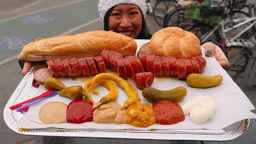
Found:
M 238 7 L 233 6 L 234 2 L 231 3 L 230 0 L 228 0 L 228 4 L 224 5 L 224 3 L 226 3 L 226 1 L 222 3 L 210 1 L 202 3 L 195 2 L 194 4 L 192 3 L 191 5 L 185 6 L 174 6 L 166 13 L 164 18 L 164 27 L 178 26 L 184 30 L 195 29 L 194 33 L 198 33 L 199 38 L 201 38 L 200 34 L 205 35 L 206 32 L 212 30 L 222 19 L 233 17 L 238 18 L 241 15 L 242 17 L 250 16 L 241 10 L 244 6 L 239 5 L 240 9 L 238 9 Z M 226 6 L 227 8 L 225 10 Z M 234 8 L 236 10 L 234 10 Z M 202 12 L 205 12 L 206 17 L 202 17 Z M 202 29 L 198 29 L 198 27 Z M 215 34 L 215 38 L 219 39 L 217 34 Z

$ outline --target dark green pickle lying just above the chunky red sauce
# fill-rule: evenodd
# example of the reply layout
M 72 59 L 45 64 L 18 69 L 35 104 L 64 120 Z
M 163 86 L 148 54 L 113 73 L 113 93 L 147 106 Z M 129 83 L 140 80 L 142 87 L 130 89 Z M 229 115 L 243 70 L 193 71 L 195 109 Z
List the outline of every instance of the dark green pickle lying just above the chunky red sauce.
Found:
M 146 87 L 142 90 L 144 98 L 150 102 L 173 101 L 180 102 L 186 97 L 187 90 L 184 86 L 178 86 L 173 90 L 158 90 L 153 87 Z

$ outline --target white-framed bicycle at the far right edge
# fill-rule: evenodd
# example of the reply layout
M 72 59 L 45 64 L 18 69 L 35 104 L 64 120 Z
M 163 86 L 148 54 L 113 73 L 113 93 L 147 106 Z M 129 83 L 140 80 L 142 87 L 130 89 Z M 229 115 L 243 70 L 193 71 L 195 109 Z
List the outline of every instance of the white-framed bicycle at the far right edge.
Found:
M 203 43 L 209 41 L 210 35 L 215 35 L 216 40 L 226 47 L 224 51 L 227 52 L 227 57 L 230 61 L 227 72 L 234 80 L 243 78 L 245 70 L 250 69 L 248 68 L 248 62 L 256 46 L 255 7 L 255 5 L 250 5 L 251 14 L 246 14 L 243 18 L 234 18 L 235 15 L 232 14 L 232 17 L 222 19 L 218 26 L 215 26 L 213 30 L 207 31 L 206 34 L 202 34 L 200 37 Z M 196 25 L 194 26 L 196 27 Z M 242 29 L 238 30 L 241 26 Z M 198 27 L 198 30 L 203 31 L 202 27 Z M 228 34 L 230 31 L 231 33 Z

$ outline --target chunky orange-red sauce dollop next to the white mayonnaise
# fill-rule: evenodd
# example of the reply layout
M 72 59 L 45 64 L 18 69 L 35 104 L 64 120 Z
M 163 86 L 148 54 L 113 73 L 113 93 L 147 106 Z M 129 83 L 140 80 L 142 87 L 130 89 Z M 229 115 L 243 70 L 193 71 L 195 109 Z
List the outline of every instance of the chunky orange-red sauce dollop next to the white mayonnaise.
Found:
M 154 102 L 152 106 L 158 124 L 171 125 L 185 120 L 183 110 L 177 102 Z

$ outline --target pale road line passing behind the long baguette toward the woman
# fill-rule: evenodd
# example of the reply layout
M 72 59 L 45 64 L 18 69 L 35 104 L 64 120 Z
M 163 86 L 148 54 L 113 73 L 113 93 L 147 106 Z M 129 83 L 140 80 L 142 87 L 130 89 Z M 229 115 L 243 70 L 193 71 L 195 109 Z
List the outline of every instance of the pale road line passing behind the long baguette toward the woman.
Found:
M 94 19 L 94 20 L 92 20 L 92 21 L 90 21 L 90 22 L 86 22 L 85 24 L 83 24 L 83 25 L 81 25 L 81 26 L 78 26 L 78 27 L 76 27 L 76 28 L 74 28 L 74 29 L 72 29 L 72 30 L 66 31 L 65 33 L 62 33 L 62 34 L 59 34 L 59 35 L 70 34 L 70 33 L 72 33 L 72 32 L 75 31 L 75 30 L 81 29 L 82 27 L 88 26 L 88 25 L 90 25 L 90 24 L 92 24 L 92 23 L 94 23 L 94 22 L 98 22 L 99 20 L 100 20 L 100 18 L 96 18 L 96 19 Z M 10 57 L 10 58 L 6 58 L 6 59 L 0 61 L 0 66 L 2 66 L 3 64 L 5 64 L 6 62 L 10 62 L 10 61 L 12 61 L 12 60 L 18 58 L 18 55 L 19 55 L 19 54 L 14 55 L 14 56 L 12 56 L 12 57 Z

